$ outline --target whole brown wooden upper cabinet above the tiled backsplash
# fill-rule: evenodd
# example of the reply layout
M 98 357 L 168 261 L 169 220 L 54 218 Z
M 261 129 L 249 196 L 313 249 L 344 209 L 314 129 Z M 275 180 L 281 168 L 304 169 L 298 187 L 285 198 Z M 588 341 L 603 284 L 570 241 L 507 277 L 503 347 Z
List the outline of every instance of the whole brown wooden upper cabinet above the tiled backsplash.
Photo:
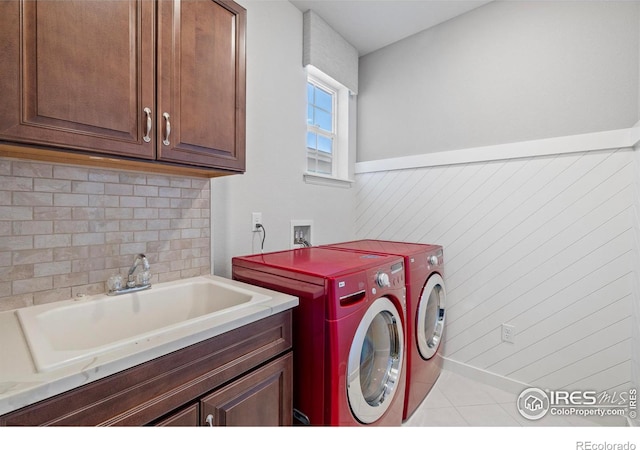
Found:
M 245 32 L 226 0 L 3 1 L 0 140 L 242 172 Z

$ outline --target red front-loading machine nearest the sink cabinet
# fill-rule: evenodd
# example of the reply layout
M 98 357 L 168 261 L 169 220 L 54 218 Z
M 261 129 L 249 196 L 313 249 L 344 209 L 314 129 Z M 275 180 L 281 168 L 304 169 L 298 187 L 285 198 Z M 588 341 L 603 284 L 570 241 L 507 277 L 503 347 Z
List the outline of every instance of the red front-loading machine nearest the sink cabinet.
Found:
M 233 278 L 295 295 L 296 419 L 402 424 L 406 313 L 397 256 L 301 248 L 232 259 Z

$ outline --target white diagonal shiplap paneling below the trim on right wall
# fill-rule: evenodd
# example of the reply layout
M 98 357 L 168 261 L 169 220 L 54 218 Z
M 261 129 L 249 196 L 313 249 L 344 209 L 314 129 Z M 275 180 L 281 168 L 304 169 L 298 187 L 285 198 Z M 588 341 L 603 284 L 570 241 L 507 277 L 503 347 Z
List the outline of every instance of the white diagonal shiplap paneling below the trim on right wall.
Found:
M 545 388 L 626 389 L 634 170 L 623 148 L 359 173 L 356 234 L 444 246 L 450 360 Z

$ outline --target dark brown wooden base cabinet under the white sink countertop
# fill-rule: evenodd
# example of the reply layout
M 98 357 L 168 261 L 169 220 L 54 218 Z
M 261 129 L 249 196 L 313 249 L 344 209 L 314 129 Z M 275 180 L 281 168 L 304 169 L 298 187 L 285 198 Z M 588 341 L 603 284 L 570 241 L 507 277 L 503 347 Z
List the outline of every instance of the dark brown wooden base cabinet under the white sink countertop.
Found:
M 0 426 L 275 426 L 293 421 L 291 311 L 0 416 Z

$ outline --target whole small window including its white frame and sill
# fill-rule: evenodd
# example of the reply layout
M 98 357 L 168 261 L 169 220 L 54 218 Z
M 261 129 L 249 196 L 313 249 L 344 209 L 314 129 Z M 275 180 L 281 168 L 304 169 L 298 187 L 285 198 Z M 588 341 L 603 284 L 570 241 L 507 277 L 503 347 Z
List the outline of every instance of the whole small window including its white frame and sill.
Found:
M 353 101 L 346 87 L 307 66 L 307 183 L 351 186 L 349 105 Z

